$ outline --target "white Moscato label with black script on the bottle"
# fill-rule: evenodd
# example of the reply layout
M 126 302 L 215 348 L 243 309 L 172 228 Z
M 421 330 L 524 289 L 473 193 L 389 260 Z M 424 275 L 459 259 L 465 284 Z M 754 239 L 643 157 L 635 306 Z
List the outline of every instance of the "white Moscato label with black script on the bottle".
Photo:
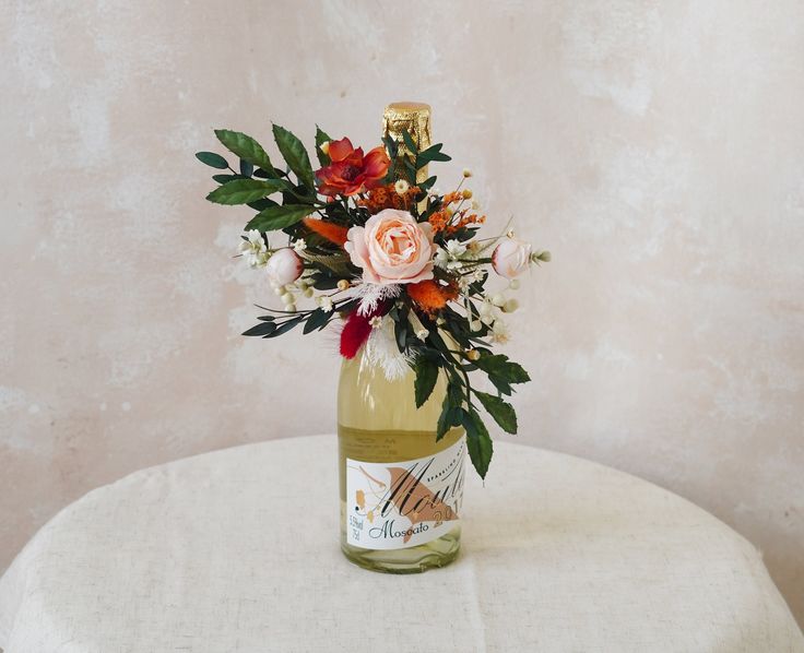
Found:
M 346 542 L 368 549 L 418 546 L 458 524 L 465 438 L 434 455 L 394 463 L 346 459 Z

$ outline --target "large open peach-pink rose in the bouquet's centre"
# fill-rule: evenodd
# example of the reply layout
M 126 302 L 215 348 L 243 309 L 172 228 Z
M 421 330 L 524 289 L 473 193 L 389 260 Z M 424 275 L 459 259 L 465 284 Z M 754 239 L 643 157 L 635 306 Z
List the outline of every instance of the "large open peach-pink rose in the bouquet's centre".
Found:
M 433 278 L 433 229 L 406 211 L 386 209 L 352 227 L 343 246 L 371 284 L 413 284 Z

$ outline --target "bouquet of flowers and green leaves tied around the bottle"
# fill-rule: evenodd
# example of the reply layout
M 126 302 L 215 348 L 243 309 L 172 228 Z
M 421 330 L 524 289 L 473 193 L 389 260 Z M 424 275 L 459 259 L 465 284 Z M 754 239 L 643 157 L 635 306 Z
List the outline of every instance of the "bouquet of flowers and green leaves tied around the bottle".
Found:
M 389 379 L 412 368 L 415 402 L 422 406 L 445 375 L 447 393 L 436 426 L 440 439 L 451 427 L 466 431 L 466 448 L 485 477 L 493 448 L 480 409 L 503 430 L 517 432 L 517 414 L 507 401 L 528 372 L 493 343 L 509 337 L 504 320 L 518 307 L 506 288 L 486 288 L 495 273 L 507 289 L 532 264 L 549 261 L 510 230 L 481 238 L 485 215 L 464 182 L 446 194 L 434 189 L 436 177 L 418 181 L 428 164 L 450 157 L 441 144 L 419 151 L 404 133 L 367 153 L 347 138 L 316 133 L 319 169 L 298 138 L 280 126 L 273 136 L 286 166 L 274 167 L 252 138 L 216 130 L 234 154 L 237 169 L 212 152 L 196 156 L 221 170 L 220 185 L 206 199 L 245 204 L 257 214 L 245 228 L 240 254 L 264 269 L 282 310 L 263 310 L 245 335 L 276 337 L 300 326 L 304 333 L 342 323 L 341 355 L 363 349 Z M 310 308 L 300 308 L 308 299 Z M 496 389 L 472 385 L 481 372 Z

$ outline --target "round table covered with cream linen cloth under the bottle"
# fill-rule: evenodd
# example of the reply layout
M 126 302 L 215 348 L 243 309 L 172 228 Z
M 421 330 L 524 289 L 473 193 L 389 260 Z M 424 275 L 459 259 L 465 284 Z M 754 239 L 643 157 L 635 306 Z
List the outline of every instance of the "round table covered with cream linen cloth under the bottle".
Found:
M 336 439 L 274 440 L 96 489 L 0 580 L 5 653 L 804 651 L 757 550 L 614 470 L 496 443 L 463 549 L 387 575 L 338 545 Z

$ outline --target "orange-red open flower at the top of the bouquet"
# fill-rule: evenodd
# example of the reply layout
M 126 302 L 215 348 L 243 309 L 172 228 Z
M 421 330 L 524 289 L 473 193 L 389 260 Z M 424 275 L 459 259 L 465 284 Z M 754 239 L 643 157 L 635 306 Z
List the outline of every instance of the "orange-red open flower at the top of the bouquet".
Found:
M 365 156 L 346 138 L 330 143 L 331 164 L 316 171 L 318 190 L 324 195 L 354 195 L 380 186 L 391 161 L 385 147 L 375 147 Z

